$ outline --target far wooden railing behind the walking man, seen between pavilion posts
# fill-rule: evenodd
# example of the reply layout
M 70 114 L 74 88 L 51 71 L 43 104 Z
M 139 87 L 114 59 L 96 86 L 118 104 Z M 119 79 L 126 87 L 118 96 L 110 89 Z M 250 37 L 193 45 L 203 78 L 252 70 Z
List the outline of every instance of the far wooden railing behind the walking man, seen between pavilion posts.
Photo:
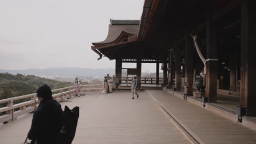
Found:
M 122 77 L 122 83 L 131 84 L 132 77 Z M 159 78 L 159 84 L 162 84 L 163 78 Z M 141 84 L 156 85 L 155 77 L 141 77 Z

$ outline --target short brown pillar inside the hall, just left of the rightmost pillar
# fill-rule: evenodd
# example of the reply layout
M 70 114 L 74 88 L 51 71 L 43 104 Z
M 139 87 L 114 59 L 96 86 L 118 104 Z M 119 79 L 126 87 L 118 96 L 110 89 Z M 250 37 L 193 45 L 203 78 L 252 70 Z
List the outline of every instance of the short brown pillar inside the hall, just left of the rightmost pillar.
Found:
M 230 53 L 230 91 L 236 92 L 237 53 Z

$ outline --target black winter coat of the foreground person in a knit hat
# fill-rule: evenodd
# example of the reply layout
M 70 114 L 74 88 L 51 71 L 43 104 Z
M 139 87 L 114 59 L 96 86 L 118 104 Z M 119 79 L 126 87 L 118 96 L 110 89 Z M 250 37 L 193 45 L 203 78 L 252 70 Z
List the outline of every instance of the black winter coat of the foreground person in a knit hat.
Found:
M 33 114 L 28 139 L 38 144 L 56 143 L 61 127 L 61 105 L 53 99 L 42 100 Z

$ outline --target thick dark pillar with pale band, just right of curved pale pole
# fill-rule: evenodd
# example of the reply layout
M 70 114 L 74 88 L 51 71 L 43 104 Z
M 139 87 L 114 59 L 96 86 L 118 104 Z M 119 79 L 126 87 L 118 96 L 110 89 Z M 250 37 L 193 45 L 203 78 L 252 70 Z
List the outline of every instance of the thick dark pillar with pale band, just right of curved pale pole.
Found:
M 218 74 L 217 29 L 206 15 L 206 97 L 209 102 L 217 101 Z

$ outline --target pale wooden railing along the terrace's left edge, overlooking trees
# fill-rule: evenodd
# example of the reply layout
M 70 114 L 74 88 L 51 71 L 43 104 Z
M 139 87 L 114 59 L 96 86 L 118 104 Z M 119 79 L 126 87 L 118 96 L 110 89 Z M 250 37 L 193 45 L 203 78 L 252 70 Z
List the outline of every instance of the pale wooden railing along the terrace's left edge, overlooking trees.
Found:
M 83 85 L 81 91 L 96 91 L 102 90 L 103 85 Z M 66 101 L 67 99 L 72 98 L 75 94 L 74 86 L 53 89 L 53 98 L 57 101 Z M 0 113 L 4 115 L 0 116 L 0 123 L 8 123 L 13 121 L 19 116 L 25 115 L 27 113 L 33 112 L 37 109 L 38 99 L 36 98 L 36 93 L 22 95 L 19 97 L 13 97 L 8 99 L 0 100 L 0 104 L 7 103 L 7 106 L 0 107 Z M 15 100 L 28 99 L 25 102 L 14 104 Z

